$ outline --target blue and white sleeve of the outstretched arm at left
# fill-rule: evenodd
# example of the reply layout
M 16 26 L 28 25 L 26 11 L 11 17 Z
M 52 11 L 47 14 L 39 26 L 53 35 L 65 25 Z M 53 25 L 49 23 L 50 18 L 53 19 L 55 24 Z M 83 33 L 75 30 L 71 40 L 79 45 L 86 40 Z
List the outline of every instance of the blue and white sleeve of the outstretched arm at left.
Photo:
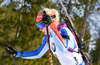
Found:
M 46 44 L 46 35 L 44 36 L 44 39 L 42 40 L 42 44 L 37 50 L 32 51 L 23 51 L 23 58 L 39 58 L 41 57 L 46 51 L 48 50 L 48 46 Z M 17 51 L 16 57 L 20 57 L 21 51 Z

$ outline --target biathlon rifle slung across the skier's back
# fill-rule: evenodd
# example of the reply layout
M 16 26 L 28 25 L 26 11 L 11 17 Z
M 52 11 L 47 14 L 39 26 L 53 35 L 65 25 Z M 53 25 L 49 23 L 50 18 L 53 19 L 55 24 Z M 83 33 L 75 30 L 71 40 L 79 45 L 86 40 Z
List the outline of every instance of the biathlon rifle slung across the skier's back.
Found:
M 78 47 L 79 47 L 79 51 L 80 53 L 82 54 L 82 57 L 83 57 L 83 60 L 86 62 L 86 65 L 92 65 L 91 64 L 91 58 L 88 56 L 88 54 L 86 52 L 83 52 L 83 49 L 86 49 L 86 43 L 84 43 L 82 41 L 82 39 L 80 38 L 80 36 L 78 35 L 77 31 L 76 31 L 76 28 L 75 26 L 73 25 L 73 22 L 71 20 L 71 18 L 69 17 L 69 15 L 67 14 L 66 10 L 65 10 L 65 7 L 62 3 L 61 0 L 59 0 L 60 3 L 61 3 L 61 6 L 63 7 L 64 9 L 64 12 L 66 14 L 66 19 L 65 19 L 65 22 L 67 24 L 67 27 L 69 28 L 69 30 L 73 33 L 76 41 L 77 41 L 77 44 L 78 44 Z

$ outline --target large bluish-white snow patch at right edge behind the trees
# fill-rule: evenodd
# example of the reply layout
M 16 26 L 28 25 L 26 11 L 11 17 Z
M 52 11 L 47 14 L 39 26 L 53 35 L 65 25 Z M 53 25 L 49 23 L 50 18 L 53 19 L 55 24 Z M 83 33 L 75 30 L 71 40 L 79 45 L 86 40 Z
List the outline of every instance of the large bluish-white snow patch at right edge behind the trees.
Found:
M 100 31 L 100 12 L 94 11 L 88 17 L 88 22 L 90 23 L 90 33 L 93 38 L 98 38 L 98 32 Z

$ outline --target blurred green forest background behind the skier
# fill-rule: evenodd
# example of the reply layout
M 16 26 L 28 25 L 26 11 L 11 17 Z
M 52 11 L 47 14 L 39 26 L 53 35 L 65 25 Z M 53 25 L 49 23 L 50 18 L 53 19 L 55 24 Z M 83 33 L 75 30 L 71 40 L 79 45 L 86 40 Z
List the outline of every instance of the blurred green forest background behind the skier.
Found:
M 13 46 L 16 50 L 30 51 L 37 49 L 44 34 L 35 25 L 36 15 L 42 8 L 54 8 L 60 13 L 60 22 L 64 22 L 65 13 L 58 0 L 8 0 L 8 4 L 0 6 L 0 65 L 14 65 L 12 58 L 7 55 L 4 44 Z M 2 4 L 4 0 L 0 0 Z M 91 40 L 88 15 L 93 13 L 95 6 L 100 5 L 99 0 L 63 0 L 64 6 L 70 15 L 77 32 L 87 44 L 85 52 L 89 52 L 89 43 L 96 41 L 95 48 L 89 52 L 92 64 L 100 65 L 100 32 L 98 38 Z M 74 8 L 80 14 L 75 13 Z M 84 10 L 84 13 L 81 11 Z M 97 8 L 97 11 L 100 11 Z M 98 21 L 97 21 L 98 22 Z M 100 22 L 100 21 L 99 21 Z M 18 65 L 49 65 L 48 52 L 39 59 L 15 58 Z M 54 65 L 59 65 L 53 56 Z

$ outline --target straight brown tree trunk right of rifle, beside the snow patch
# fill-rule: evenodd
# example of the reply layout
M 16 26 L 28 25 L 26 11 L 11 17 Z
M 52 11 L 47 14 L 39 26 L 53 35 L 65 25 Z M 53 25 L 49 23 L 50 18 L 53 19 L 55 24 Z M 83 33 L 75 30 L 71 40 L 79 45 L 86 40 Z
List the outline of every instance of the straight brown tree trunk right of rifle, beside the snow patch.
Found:
M 81 39 L 84 39 L 84 34 L 85 34 L 85 29 L 86 29 L 86 23 L 87 23 L 90 3 L 91 3 L 91 0 L 87 0 L 86 6 L 85 6 L 85 11 L 84 11 L 84 19 L 83 19 L 82 27 L 81 27 L 81 34 L 80 34 Z

